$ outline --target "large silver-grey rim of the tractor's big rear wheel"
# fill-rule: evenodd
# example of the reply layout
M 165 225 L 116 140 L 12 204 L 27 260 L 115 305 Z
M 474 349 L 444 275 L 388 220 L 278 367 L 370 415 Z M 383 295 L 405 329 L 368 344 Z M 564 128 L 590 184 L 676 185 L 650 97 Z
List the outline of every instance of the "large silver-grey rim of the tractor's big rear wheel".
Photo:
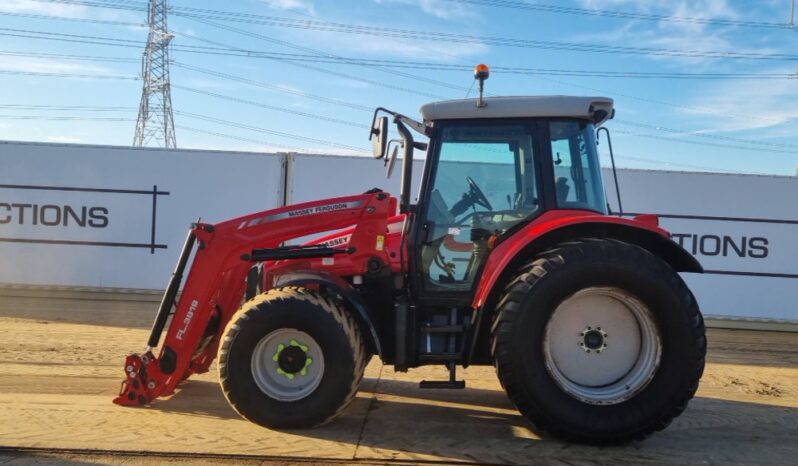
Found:
M 621 403 L 659 367 L 662 344 L 648 307 L 618 288 L 586 288 L 557 306 L 543 354 L 557 385 L 590 404 Z

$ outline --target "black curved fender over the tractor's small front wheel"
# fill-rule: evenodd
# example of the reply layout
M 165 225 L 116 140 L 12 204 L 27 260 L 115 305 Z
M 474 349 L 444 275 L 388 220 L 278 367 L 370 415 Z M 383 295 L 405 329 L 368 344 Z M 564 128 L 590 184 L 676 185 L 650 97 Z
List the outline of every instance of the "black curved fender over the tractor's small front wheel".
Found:
M 274 288 L 309 285 L 330 289 L 341 296 L 360 325 L 366 347 L 380 358 L 383 357 L 382 343 L 375 327 L 374 316 L 357 290 L 344 279 L 319 271 L 292 271 L 275 276 L 272 282 Z

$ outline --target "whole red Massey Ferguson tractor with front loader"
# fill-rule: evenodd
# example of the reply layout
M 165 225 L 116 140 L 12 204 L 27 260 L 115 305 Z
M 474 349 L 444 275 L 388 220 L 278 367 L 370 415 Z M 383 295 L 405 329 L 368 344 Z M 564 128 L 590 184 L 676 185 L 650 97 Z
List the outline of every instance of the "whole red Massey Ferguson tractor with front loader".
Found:
M 656 216 L 610 214 L 596 128 L 612 100 L 483 99 L 487 69 L 476 77 L 479 99 L 424 105 L 423 122 L 375 111 L 375 157 L 389 146 L 380 115 L 401 138 L 387 156 L 392 167 L 403 148 L 399 199 L 373 189 L 193 224 L 114 401 L 170 395 L 218 358 L 243 417 L 313 427 L 378 355 L 397 371 L 448 368 L 422 388 L 463 388 L 457 366 L 493 365 L 520 412 L 569 441 L 642 439 L 684 411 L 706 339 L 678 272 L 702 268 Z M 427 157 L 413 203 L 415 149 Z

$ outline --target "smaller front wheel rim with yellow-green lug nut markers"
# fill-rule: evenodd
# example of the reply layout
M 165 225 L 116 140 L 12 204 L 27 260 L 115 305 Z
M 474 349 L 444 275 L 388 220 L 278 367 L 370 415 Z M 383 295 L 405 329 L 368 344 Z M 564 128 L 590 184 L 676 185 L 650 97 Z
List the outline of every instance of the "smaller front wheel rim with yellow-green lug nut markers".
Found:
M 310 335 L 296 329 L 275 330 L 252 352 L 252 377 L 266 395 L 296 401 L 313 393 L 324 375 L 324 354 Z

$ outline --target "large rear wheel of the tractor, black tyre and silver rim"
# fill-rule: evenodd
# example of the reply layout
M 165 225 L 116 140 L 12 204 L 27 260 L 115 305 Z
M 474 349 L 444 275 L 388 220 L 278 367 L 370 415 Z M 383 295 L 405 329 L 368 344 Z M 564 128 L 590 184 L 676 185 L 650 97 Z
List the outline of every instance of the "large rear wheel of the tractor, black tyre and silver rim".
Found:
M 614 240 L 564 243 L 505 288 L 492 355 L 507 395 L 541 430 L 618 444 L 664 429 L 704 370 L 704 322 L 663 260 Z

